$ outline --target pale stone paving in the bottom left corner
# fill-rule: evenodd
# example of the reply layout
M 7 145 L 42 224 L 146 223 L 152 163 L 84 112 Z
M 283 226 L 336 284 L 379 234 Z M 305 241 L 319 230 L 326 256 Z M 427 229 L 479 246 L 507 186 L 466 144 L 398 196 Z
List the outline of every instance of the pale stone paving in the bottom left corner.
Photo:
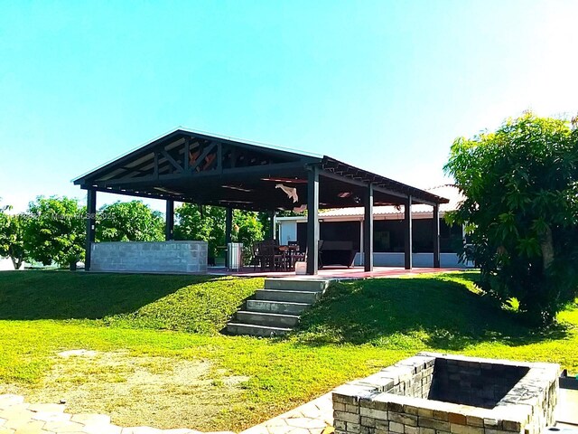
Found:
M 110 423 L 104 414 L 64 410 L 63 404 L 28 404 L 23 396 L 0 395 L 0 434 L 200 434 L 194 429 L 124 428 Z

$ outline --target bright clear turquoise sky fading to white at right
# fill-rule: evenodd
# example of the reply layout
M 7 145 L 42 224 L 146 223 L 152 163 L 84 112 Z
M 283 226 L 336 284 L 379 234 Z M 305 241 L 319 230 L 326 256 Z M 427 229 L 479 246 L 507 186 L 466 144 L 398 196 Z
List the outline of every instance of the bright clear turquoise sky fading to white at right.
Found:
M 441 184 L 455 137 L 578 111 L 577 19 L 572 0 L 0 0 L 0 197 L 84 198 L 72 178 L 179 126 Z

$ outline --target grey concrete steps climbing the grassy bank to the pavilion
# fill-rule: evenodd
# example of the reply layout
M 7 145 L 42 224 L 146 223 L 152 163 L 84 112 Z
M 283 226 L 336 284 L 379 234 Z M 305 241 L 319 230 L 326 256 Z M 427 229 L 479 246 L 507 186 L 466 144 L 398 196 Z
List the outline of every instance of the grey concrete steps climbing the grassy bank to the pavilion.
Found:
M 266 278 L 228 322 L 230 335 L 275 336 L 293 330 L 299 317 L 329 287 L 328 279 Z

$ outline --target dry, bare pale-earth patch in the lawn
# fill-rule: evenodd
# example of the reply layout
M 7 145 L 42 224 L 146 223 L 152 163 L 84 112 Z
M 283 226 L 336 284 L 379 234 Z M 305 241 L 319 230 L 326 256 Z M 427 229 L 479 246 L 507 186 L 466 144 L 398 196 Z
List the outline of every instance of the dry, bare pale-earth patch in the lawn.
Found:
M 132 356 L 127 351 L 56 355 L 30 402 L 66 401 L 67 411 L 108 414 L 121 426 L 222 429 L 248 377 L 227 376 L 206 361 Z

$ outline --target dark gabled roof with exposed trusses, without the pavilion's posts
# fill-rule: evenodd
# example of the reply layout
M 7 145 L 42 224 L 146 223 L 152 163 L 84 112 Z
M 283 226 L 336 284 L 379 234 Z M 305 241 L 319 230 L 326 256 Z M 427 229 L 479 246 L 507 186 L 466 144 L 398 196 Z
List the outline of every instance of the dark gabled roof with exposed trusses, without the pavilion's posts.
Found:
M 371 184 L 376 203 L 444 203 L 445 199 L 328 156 L 256 146 L 191 131 L 176 130 L 74 181 L 85 189 L 156 199 L 172 199 L 247 210 L 293 209 L 303 205 L 307 171 L 318 167 L 320 208 L 359 206 Z M 296 189 L 299 203 L 276 184 Z M 350 192 L 351 198 L 342 197 Z M 322 195 L 323 195 L 322 194 Z

